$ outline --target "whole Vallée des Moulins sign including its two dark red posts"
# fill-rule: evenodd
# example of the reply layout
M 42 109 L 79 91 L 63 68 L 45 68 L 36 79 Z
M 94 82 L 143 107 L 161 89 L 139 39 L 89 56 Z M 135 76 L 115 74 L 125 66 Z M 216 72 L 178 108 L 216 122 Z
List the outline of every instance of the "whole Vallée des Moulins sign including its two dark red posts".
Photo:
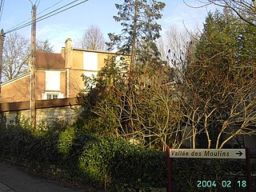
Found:
M 235 158 L 246 159 L 247 190 L 252 191 L 250 148 L 246 149 L 170 149 L 166 146 L 168 166 L 168 192 L 171 192 L 170 158 Z

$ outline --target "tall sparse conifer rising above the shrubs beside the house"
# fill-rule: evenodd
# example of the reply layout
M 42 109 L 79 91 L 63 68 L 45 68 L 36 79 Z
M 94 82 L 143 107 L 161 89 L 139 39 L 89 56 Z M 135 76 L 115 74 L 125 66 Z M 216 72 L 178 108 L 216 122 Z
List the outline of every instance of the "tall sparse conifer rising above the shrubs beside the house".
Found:
M 118 16 L 116 22 L 123 26 L 122 34 L 109 34 L 110 49 L 116 47 L 121 54 L 131 54 L 131 66 L 134 65 L 135 54 L 140 58 L 147 57 L 157 51 L 155 40 L 160 37 L 161 26 L 158 19 L 166 6 L 156 0 L 125 0 L 122 5 L 115 4 Z

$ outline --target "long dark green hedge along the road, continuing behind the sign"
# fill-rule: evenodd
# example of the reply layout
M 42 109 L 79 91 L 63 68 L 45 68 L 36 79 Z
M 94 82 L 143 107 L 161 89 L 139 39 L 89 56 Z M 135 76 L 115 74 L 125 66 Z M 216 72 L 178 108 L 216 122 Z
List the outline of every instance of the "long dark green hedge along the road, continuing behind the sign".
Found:
M 0 130 L 0 141 L 2 158 L 34 162 L 41 170 L 75 182 L 110 191 L 167 185 L 166 153 L 121 138 L 94 137 L 67 126 L 50 131 Z M 254 163 L 254 174 L 255 168 Z M 245 180 L 245 170 L 241 160 L 172 158 L 173 191 L 230 191 L 220 187 L 222 181 Z M 216 181 L 217 187 L 200 189 L 199 180 Z M 232 190 L 245 191 L 235 186 Z

